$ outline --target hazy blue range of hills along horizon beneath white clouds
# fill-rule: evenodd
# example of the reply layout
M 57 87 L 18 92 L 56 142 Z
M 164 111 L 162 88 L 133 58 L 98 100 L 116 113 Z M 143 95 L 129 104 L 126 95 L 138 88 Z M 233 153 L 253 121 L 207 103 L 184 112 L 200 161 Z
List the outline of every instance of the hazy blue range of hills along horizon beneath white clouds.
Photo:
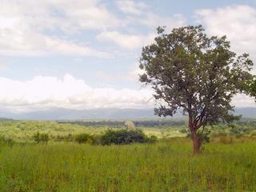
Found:
M 242 114 L 244 117 L 256 117 L 256 107 L 236 108 L 235 114 Z M 94 109 L 94 110 L 69 110 L 54 108 L 24 113 L 10 113 L 0 110 L 0 117 L 24 120 L 82 120 L 82 119 L 134 119 L 134 118 L 157 118 L 153 109 Z M 174 115 L 181 118 L 182 113 Z

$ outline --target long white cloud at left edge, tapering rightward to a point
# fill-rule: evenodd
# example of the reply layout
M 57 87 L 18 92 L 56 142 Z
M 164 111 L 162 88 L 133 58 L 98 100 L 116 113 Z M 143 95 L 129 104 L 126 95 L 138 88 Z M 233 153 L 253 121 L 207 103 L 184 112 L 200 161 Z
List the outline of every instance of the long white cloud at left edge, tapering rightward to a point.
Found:
M 0 54 L 2 55 L 48 55 L 64 54 L 108 58 L 109 54 L 89 46 L 60 38 L 50 38 L 30 30 L 5 30 L 0 34 Z

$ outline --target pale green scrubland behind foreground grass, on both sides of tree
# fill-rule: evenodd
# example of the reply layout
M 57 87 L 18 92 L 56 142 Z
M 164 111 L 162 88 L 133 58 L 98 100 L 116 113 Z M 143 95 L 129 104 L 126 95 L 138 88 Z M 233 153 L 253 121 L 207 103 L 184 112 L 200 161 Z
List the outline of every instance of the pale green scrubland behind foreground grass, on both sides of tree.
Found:
M 78 124 L 76 124 L 78 123 Z M 113 123 L 113 122 L 112 122 Z M 143 125 L 143 122 L 137 122 Z M 189 130 L 186 128 L 186 120 L 174 120 L 174 126 L 170 126 L 170 122 L 146 122 L 147 126 L 138 126 L 146 136 L 157 136 L 158 138 L 186 137 Z M 55 142 L 72 142 L 77 134 L 102 135 L 106 130 L 126 129 L 124 122 L 115 122 L 118 126 L 109 126 L 108 122 L 98 122 L 95 126 L 94 122 L 39 122 L 39 121 L 10 121 L 0 122 L 0 135 L 5 139 L 15 142 L 34 142 L 36 134 L 47 134 L 49 141 Z M 151 126 L 150 126 L 151 125 Z M 114 128 L 112 128 L 114 127 Z M 208 127 L 206 126 L 206 130 Z M 210 136 L 215 137 L 223 134 L 243 134 L 246 136 L 256 134 L 256 119 L 243 118 L 239 122 L 235 122 L 232 126 L 219 124 L 211 129 Z M 91 139 L 91 138 L 90 138 Z

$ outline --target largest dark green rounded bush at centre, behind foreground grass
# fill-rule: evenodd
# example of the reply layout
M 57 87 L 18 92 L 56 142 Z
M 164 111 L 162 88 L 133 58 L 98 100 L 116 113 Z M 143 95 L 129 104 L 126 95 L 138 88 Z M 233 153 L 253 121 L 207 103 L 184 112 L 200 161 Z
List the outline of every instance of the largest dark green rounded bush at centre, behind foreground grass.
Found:
M 106 133 L 101 137 L 102 145 L 124 145 L 133 142 L 155 142 L 156 138 L 153 136 L 148 138 L 142 130 L 106 130 Z

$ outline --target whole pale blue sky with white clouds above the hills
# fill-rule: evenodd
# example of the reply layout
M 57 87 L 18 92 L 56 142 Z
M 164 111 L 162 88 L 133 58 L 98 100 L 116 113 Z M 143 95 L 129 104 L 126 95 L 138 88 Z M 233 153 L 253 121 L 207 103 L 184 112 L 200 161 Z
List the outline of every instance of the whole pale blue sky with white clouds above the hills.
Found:
M 0 108 L 152 107 L 142 46 L 158 26 L 198 24 L 256 62 L 255 0 L 0 0 Z M 232 104 L 255 106 L 245 95 Z

